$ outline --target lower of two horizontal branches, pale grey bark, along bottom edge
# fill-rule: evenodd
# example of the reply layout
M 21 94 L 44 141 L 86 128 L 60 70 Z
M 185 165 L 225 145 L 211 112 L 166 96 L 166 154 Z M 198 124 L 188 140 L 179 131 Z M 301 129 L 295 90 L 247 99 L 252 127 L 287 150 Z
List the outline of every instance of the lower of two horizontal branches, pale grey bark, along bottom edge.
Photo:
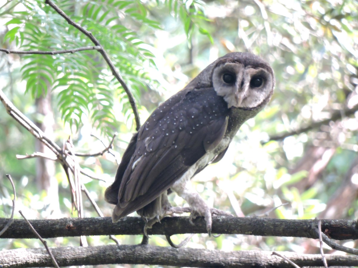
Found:
M 51 251 L 60 266 L 100 264 L 147 264 L 186 267 L 291 268 L 284 259 L 271 251 L 221 250 L 156 247 L 151 245 L 102 245 L 97 247 L 58 247 Z M 280 252 L 280 255 L 302 266 L 322 266 L 320 254 Z M 357 256 L 327 255 L 330 265 L 356 265 Z M 0 264 L 7 267 L 48 267 L 51 260 L 43 248 L 0 251 Z

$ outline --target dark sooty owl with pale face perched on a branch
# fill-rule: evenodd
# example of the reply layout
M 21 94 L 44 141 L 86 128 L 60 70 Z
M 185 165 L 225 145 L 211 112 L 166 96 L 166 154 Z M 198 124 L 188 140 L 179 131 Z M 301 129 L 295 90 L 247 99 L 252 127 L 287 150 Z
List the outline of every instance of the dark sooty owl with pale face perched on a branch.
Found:
M 205 217 L 210 233 L 212 215 L 228 213 L 208 207 L 190 179 L 222 159 L 240 126 L 270 100 L 274 85 L 265 60 L 229 53 L 159 105 L 133 135 L 106 189 L 106 201 L 116 205 L 113 222 L 137 211 L 146 232 L 165 215 L 185 210 L 169 204 L 167 194 L 174 191 L 188 202 L 192 215 Z

